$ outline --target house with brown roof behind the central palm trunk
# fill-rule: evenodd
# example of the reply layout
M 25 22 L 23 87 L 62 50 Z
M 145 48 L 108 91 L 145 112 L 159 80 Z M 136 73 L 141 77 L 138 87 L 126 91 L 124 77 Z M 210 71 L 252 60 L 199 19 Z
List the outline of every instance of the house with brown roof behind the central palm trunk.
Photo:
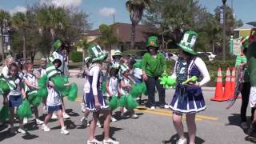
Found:
M 130 50 L 131 43 L 131 24 L 130 23 L 114 23 L 115 34 L 119 39 L 117 45 L 113 46 L 114 49 Z M 138 25 L 135 30 L 135 48 L 143 49 L 146 43 L 146 38 L 152 34 L 157 34 L 157 30 L 150 30 L 148 26 Z M 90 30 L 86 32 L 86 38 L 88 42 L 94 42 L 96 38 L 101 36 L 101 32 L 97 30 Z

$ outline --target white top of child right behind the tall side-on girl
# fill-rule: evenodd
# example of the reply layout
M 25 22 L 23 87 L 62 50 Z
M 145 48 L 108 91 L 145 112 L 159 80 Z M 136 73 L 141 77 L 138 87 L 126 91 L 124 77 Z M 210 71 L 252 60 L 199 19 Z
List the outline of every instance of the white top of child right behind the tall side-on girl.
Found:
M 108 77 L 107 78 L 108 81 L 109 81 L 109 90 L 110 90 L 110 93 L 115 95 L 115 96 L 118 96 L 118 82 L 119 82 L 119 79 L 117 77 Z M 110 97 L 110 94 L 106 92 L 106 96 L 107 97 Z

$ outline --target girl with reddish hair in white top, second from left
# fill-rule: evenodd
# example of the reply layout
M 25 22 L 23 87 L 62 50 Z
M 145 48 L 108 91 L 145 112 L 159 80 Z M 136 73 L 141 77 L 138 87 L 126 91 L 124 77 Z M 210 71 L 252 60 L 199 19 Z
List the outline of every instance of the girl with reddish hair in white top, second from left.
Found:
M 34 90 L 38 89 L 38 80 L 36 78 L 36 76 L 33 74 L 34 71 L 34 66 L 32 63 L 27 62 L 25 64 L 25 68 L 26 68 L 26 74 L 24 75 L 24 82 L 25 82 L 25 93 L 26 93 L 26 98 L 29 97 L 30 93 L 33 93 Z M 39 115 L 38 115 L 38 106 L 33 106 L 34 109 L 34 115 L 35 115 L 35 122 L 38 125 L 42 125 L 43 121 L 41 121 L 39 119 Z M 27 118 L 23 119 L 23 124 L 27 123 Z

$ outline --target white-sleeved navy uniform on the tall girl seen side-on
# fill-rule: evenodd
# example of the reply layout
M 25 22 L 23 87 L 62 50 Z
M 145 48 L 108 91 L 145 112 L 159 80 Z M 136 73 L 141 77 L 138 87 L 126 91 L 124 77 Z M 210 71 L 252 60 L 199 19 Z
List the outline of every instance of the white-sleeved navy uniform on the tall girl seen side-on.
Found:
M 101 103 L 100 109 L 108 109 L 109 106 L 102 95 L 102 70 L 97 63 L 90 66 L 88 80 L 90 91 L 86 93 L 86 109 L 96 111 L 94 95 L 98 96 L 98 102 Z

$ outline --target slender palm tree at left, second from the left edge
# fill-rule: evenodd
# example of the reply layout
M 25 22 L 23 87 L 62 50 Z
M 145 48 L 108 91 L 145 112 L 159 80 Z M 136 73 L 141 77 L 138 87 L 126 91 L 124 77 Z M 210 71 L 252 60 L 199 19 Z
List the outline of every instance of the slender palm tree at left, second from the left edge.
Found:
M 12 17 L 12 24 L 16 30 L 22 30 L 23 59 L 26 60 L 26 14 L 18 12 Z

